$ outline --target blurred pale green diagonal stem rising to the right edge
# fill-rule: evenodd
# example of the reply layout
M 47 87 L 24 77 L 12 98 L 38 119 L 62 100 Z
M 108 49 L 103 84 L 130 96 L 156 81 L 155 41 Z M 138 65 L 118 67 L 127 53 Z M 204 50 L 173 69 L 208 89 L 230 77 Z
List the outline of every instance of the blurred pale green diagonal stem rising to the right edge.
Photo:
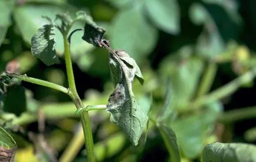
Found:
M 227 97 L 233 94 L 238 88 L 249 81 L 251 81 L 256 76 L 256 67 L 252 68 L 251 71 L 241 75 L 237 79 L 229 82 L 228 84 L 218 88 L 217 90 L 211 92 L 208 95 L 201 96 L 197 98 L 192 103 L 188 104 L 186 107 L 180 108 L 179 113 L 185 113 L 186 111 L 196 110 L 201 108 L 203 105 L 212 103 L 214 101 L 220 100 L 221 98 Z

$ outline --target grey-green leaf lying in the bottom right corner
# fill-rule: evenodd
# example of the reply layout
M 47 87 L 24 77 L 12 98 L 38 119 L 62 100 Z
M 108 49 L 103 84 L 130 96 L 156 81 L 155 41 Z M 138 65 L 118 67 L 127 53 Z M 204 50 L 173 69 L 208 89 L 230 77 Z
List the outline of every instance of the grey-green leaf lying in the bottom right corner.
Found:
M 256 161 L 256 147 L 244 143 L 212 143 L 205 146 L 204 162 L 244 162 Z

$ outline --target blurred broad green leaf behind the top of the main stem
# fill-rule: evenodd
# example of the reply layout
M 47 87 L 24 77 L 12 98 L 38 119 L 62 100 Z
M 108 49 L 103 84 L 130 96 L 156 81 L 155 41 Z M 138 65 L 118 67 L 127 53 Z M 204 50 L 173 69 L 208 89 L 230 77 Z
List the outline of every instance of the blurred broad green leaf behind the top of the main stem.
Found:
M 37 11 L 37 12 L 35 12 Z M 32 5 L 26 4 L 18 6 L 14 11 L 14 20 L 17 23 L 18 28 L 21 30 L 22 38 L 27 44 L 31 44 L 31 38 L 35 32 L 42 26 L 49 24 L 47 19 L 42 18 L 42 16 L 48 16 L 51 19 L 55 19 L 56 14 L 63 14 L 70 11 L 71 17 L 75 17 L 76 14 L 71 8 L 61 8 L 56 5 Z M 74 13 L 74 14 L 73 14 Z M 77 22 L 71 28 L 71 31 L 77 28 L 83 28 L 84 23 Z M 83 32 L 76 32 L 71 39 L 71 55 L 73 60 L 78 60 L 81 55 L 86 55 L 93 45 L 82 41 L 81 35 Z M 63 46 L 63 36 L 60 31 L 55 31 L 56 35 L 56 51 L 58 55 L 62 55 L 64 52 Z

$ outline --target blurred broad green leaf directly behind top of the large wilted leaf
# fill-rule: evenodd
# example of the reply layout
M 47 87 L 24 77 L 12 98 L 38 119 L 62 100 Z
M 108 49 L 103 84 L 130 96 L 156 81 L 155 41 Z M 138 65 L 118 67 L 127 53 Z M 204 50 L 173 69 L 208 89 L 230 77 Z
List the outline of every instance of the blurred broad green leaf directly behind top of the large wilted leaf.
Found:
M 140 61 L 143 55 L 155 48 L 157 30 L 146 21 L 141 2 L 122 9 L 111 24 L 111 47 L 124 49 L 136 61 Z

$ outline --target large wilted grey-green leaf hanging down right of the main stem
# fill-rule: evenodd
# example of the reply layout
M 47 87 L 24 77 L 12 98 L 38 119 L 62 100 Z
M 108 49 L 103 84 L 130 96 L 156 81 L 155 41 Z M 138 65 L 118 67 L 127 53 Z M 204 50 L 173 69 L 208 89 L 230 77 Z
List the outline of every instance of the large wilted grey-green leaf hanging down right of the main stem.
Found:
M 110 121 L 116 123 L 137 146 L 148 117 L 137 104 L 132 91 L 132 82 L 138 71 L 134 66 L 136 62 L 126 52 L 114 50 L 110 51 L 109 65 L 116 88 L 109 97 L 106 110 L 111 114 Z

